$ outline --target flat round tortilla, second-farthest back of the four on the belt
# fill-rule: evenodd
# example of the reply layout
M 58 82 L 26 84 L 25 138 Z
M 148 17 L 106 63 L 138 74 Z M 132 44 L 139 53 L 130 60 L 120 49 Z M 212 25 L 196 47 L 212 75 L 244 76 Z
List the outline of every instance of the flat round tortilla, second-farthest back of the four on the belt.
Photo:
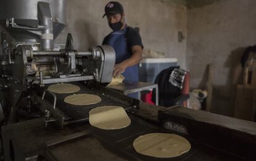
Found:
M 101 101 L 99 96 L 94 94 L 73 94 L 65 97 L 64 102 L 72 105 L 90 105 Z

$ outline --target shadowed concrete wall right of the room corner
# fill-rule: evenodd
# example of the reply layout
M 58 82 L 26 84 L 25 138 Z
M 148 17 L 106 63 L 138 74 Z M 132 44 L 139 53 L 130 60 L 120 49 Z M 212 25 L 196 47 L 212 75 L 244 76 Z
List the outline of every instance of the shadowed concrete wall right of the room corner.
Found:
M 255 7 L 254 0 L 226 0 L 188 10 L 191 86 L 203 86 L 207 64 L 215 64 L 213 112 L 233 114 L 236 85 L 242 83 L 239 60 L 256 43 Z

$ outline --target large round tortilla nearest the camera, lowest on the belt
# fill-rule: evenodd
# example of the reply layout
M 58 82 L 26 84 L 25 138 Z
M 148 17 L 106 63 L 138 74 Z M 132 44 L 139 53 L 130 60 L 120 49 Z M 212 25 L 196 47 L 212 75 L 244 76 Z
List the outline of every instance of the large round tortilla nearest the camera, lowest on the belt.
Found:
M 150 157 L 171 158 L 189 151 L 187 139 L 177 134 L 151 133 L 134 140 L 134 149 L 139 154 Z

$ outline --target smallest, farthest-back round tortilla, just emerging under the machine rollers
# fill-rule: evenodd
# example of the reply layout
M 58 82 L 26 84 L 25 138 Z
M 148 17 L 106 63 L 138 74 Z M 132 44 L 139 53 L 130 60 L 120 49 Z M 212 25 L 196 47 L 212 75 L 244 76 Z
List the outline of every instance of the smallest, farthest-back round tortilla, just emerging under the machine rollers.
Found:
M 75 93 L 80 91 L 79 86 L 67 84 L 67 83 L 58 83 L 48 87 L 48 90 L 53 93 Z

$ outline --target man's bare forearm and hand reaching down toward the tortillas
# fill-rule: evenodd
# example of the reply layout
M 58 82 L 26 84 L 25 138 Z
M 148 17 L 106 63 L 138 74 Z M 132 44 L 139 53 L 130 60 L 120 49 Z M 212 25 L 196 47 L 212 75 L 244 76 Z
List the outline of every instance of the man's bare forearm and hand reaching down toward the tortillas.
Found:
M 126 68 L 139 64 L 140 60 L 142 60 L 142 46 L 132 46 L 132 56 L 114 66 L 113 76 L 116 77 L 121 75 Z

